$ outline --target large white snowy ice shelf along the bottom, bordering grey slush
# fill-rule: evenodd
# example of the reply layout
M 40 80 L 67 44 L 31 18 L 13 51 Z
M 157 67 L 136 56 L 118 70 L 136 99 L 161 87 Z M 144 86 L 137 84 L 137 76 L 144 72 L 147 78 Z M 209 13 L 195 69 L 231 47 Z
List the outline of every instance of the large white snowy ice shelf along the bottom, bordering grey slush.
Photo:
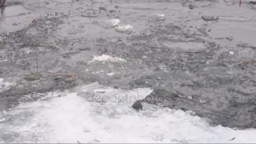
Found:
M 92 89 L 93 88 L 93 89 Z M 150 88 L 116 90 L 97 83 L 75 88 L 78 93 L 55 93 L 52 99 L 22 103 L 2 112 L 0 142 L 4 143 L 253 143 L 256 131 L 211 127 L 188 112 L 144 105 L 131 108 L 136 96 Z M 105 102 L 88 96 L 104 94 Z M 104 92 L 104 93 L 103 93 Z M 82 94 L 81 94 L 82 93 Z M 48 94 L 51 97 L 51 94 Z M 55 97 L 55 98 L 54 98 Z M 131 101 L 122 101 L 123 98 Z M 229 141 L 234 138 L 233 141 Z

